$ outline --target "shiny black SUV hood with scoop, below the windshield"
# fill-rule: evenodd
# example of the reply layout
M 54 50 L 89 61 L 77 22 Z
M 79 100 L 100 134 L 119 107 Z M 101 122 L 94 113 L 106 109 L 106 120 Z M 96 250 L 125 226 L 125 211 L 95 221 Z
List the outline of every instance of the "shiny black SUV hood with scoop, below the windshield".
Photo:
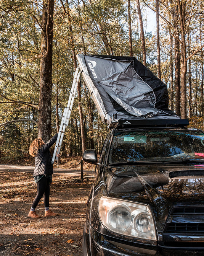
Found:
M 204 205 L 204 165 L 120 166 L 105 173 L 108 196 L 148 204 L 157 230 L 172 207 Z

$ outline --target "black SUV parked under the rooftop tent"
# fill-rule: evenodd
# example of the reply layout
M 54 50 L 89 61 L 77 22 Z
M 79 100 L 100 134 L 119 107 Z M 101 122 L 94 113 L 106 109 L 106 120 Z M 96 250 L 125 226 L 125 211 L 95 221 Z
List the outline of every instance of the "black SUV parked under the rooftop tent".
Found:
M 204 132 L 112 129 L 87 202 L 84 256 L 204 255 Z

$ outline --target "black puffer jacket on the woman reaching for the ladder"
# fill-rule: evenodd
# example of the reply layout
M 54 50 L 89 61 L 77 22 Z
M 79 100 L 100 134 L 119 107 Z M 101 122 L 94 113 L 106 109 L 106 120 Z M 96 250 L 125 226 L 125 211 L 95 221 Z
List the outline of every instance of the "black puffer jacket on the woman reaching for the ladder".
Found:
M 33 176 L 43 174 L 53 174 L 53 164 L 51 163 L 52 157 L 50 147 L 56 142 L 58 134 L 55 134 L 48 142 L 39 148 L 35 156 L 35 170 Z

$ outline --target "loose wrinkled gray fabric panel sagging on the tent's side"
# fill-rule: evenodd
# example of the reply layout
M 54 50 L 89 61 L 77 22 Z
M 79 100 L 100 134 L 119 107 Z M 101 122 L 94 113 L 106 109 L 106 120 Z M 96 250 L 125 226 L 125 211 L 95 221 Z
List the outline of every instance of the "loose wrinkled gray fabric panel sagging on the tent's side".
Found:
M 101 87 L 134 116 L 151 116 L 159 114 L 155 111 L 155 95 L 153 90 L 144 83 L 130 65 L 126 70 L 103 78 L 98 82 Z

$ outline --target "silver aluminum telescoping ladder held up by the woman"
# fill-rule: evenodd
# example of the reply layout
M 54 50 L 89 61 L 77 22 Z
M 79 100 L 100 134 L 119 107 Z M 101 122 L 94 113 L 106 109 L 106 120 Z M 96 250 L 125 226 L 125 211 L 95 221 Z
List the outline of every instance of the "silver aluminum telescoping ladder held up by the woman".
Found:
M 75 70 L 74 80 L 72 82 L 72 88 L 71 88 L 71 92 L 69 95 L 67 107 L 64 108 L 64 113 L 63 113 L 63 117 L 62 117 L 61 124 L 59 127 L 58 137 L 56 140 L 55 150 L 53 153 L 51 163 L 54 163 L 55 160 L 58 160 L 57 155 L 59 154 L 60 149 L 61 149 L 61 145 L 62 145 L 62 141 L 63 141 L 63 137 L 64 137 L 64 131 L 69 124 L 69 119 L 70 119 L 70 115 L 71 115 L 71 111 L 72 111 L 72 107 L 73 107 L 73 103 L 74 103 L 77 85 L 79 83 L 80 73 L 81 73 L 81 71 L 80 71 L 79 67 L 77 67 Z

